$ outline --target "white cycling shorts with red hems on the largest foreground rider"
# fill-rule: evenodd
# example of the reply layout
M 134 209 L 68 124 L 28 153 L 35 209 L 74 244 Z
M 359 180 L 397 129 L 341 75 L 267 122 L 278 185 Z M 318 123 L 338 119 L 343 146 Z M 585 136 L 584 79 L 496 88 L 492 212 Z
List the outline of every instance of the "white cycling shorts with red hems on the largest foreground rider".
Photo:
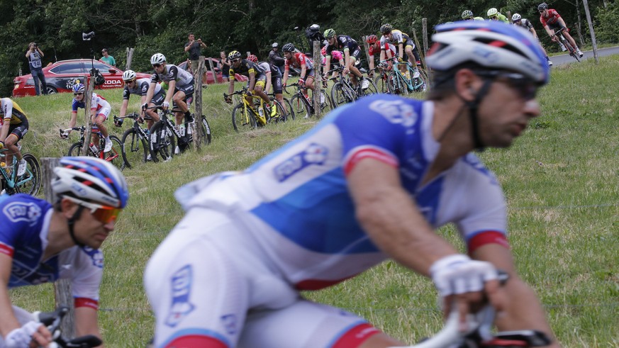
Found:
M 352 348 L 379 333 L 301 298 L 233 218 L 192 208 L 152 255 L 144 284 L 155 347 Z

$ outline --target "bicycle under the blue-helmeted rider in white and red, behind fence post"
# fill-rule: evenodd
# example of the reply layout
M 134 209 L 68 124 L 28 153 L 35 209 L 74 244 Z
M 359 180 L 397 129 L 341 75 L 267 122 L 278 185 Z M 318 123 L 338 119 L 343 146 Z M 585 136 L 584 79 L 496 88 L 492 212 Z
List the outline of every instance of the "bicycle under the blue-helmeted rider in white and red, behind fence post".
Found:
M 86 126 L 82 125 L 82 127 L 73 127 L 67 129 L 60 129 L 60 137 L 66 137 L 69 130 L 79 130 L 79 141 L 74 142 L 73 145 L 69 147 L 69 152 L 67 152 L 68 156 L 83 156 L 82 148 L 84 147 L 84 133 L 86 133 Z M 112 148 L 108 152 L 104 152 L 106 147 L 106 139 L 103 134 L 101 134 L 101 130 L 99 130 L 96 125 L 93 125 L 91 135 L 96 135 L 99 138 L 99 144 L 90 143 L 87 153 L 87 156 L 98 157 L 100 159 L 104 159 L 107 162 L 110 162 L 118 169 L 123 170 L 126 167 L 125 160 L 123 159 L 123 143 L 116 135 L 110 135 L 110 140 L 112 142 Z

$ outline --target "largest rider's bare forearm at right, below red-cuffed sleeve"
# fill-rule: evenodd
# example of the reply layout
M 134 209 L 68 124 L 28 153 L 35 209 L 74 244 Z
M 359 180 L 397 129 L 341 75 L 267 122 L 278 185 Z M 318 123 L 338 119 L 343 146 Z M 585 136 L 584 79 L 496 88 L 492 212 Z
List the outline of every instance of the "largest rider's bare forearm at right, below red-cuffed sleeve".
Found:
M 491 262 L 497 269 L 509 274 L 509 281 L 502 288 L 506 295 L 506 306 L 496 320 L 499 331 L 540 330 L 548 337 L 553 337 L 535 292 L 515 273 L 513 258 L 508 248 L 498 244 L 487 244 L 476 249 L 472 257 Z M 559 347 L 556 341 L 553 337 L 555 343 L 549 347 Z

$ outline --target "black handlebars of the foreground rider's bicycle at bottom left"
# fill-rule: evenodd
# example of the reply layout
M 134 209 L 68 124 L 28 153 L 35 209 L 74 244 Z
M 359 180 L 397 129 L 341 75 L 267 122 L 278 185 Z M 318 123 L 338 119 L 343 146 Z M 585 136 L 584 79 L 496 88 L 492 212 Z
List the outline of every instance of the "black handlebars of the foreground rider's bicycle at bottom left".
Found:
M 69 308 L 66 306 L 60 306 L 53 312 L 35 312 L 33 317 L 35 321 L 42 323 L 52 333 L 54 339 L 50 344 L 50 348 L 92 348 L 99 347 L 103 342 L 99 337 L 94 335 L 86 335 L 76 337 L 74 339 L 65 339 L 60 332 L 60 324 L 62 318 L 69 313 Z

